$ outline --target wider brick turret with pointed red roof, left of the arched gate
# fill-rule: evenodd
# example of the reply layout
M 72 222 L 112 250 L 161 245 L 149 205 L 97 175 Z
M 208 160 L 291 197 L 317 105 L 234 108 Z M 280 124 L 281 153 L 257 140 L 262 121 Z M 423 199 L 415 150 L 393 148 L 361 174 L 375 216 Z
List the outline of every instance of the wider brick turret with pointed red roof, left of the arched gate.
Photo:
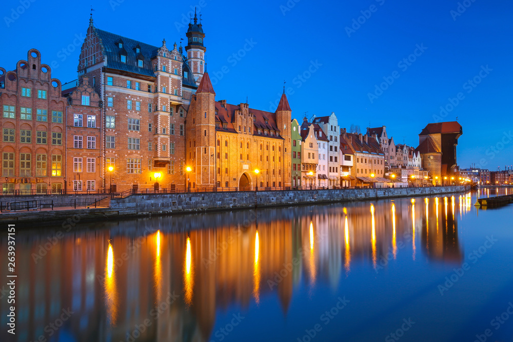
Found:
M 215 92 L 205 72 L 192 96 L 186 123 L 186 163 L 192 166 L 192 187 L 215 184 Z M 195 184 L 194 184 L 195 183 Z

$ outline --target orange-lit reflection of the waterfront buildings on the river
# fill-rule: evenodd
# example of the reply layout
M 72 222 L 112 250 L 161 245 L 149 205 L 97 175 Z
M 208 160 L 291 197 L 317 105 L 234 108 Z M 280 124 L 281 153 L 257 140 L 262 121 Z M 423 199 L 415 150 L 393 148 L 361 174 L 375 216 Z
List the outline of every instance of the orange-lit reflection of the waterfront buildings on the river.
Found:
M 420 252 L 458 265 L 457 199 L 448 206 L 444 197 L 443 210 L 439 200 L 425 198 L 425 207 L 380 200 L 370 212 L 368 203 L 354 203 L 136 219 L 99 230 L 84 225 L 37 264 L 30 255 L 48 234 L 27 233 L 17 244 L 26 289 L 17 303 L 27 312 L 18 320 L 20 338 L 37 339 L 70 307 L 76 313 L 66 330 L 77 341 L 126 340 L 145 321 L 141 341 L 207 341 L 220 310 L 275 297 L 287 315 L 294 289 L 337 289 L 342 272 L 374 272 L 389 253 L 412 263 Z M 460 198 L 460 213 L 469 201 Z M 6 251 L 0 240 L 0 253 Z

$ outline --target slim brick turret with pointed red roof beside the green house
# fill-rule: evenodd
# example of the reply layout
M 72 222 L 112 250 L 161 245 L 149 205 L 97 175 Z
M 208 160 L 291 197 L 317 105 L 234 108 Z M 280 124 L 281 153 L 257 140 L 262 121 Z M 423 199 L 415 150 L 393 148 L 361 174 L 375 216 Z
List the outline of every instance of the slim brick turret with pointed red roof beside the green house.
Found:
M 284 153 L 283 153 L 283 184 L 285 187 L 290 187 L 291 185 L 291 140 L 290 140 L 290 125 L 292 111 L 290 110 L 290 106 L 288 104 L 287 95 L 285 95 L 285 87 L 283 88 L 282 98 L 280 98 L 280 103 L 278 104 L 278 108 L 276 109 L 276 125 L 280 130 L 280 135 L 285 140 L 284 142 Z M 287 171 L 285 171 L 287 170 Z

